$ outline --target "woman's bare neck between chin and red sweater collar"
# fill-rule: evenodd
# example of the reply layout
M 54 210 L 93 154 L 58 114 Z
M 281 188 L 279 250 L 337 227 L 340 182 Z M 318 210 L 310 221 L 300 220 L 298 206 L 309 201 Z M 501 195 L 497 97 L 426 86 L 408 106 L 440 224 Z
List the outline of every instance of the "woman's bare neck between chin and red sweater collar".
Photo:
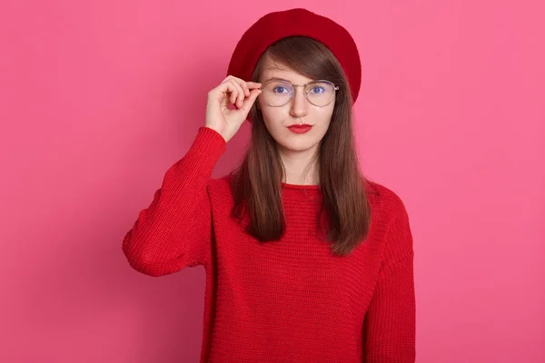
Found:
M 317 148 L 303 152 L 279 150 L 285 174 L 282 182 L 296 185 L 319 184 L 319 163 Z

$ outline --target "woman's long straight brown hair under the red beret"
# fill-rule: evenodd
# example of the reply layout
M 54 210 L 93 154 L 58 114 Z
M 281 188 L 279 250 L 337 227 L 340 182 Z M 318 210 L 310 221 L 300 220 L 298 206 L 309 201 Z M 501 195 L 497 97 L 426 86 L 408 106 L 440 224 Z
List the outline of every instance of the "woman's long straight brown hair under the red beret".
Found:
M 253 82 L 259 82 L 263 67 L 270 61 L 309 78 L 325 79 L 339 86 L 332 120 L 315 160 L 319 163 L 322 191 L 320 215 L 326 212 L 329 227 L 327 239 L 332 242 L 333 254 L 349 254 L 367 237 L 371 208 L 365 192 L 366 180 L 360 172 L 354 147 L 348 80 L 332 52 L 305 36 L 283 38 L 272 44 L 256 65 Z M 231 173 L 233 217 L 242 221 L 244 213 L 248 213 L 248 233 L 262 242 L 280 240 L 285 232 L 282 160 L 257 103 L 249 118 L 253 124 L 250 145 L 243 162 Z

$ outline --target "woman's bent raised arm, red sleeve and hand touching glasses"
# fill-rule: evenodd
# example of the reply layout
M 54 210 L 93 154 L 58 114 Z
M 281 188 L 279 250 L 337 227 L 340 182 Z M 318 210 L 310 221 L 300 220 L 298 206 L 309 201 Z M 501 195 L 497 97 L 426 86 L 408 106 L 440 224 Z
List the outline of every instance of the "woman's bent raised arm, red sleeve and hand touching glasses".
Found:
M 162 276 L 205 265 L 211 259 L 208 182 L 226 142 L 239 130 L 261 93 L 260 86 L 228 76 L 208 93 L 205 127 L 199 129 L 182 160 L 165 173 L 154 200 L 125 234 L 123 251 L 134 270 Z M 230 104 L 234 110 L 229 109 Z

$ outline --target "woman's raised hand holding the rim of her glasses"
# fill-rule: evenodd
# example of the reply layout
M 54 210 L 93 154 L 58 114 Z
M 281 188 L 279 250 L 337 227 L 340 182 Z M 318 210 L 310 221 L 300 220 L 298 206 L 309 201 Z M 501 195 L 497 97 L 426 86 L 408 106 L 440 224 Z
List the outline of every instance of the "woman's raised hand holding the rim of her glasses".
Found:
M 219 132 L 225 142 L 229 142 L 246 120 L 257 96 L 263 92 L 259 89 L 261 85 L 227 76 L 208 93 L 205 126 Z M 229 108 L 231 104 L 234 110 Z

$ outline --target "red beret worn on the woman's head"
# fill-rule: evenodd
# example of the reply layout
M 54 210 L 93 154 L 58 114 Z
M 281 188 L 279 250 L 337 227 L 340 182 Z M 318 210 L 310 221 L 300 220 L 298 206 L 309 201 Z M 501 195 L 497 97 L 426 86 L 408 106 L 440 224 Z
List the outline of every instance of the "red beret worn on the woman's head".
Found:
M 269 13 L 255 22 L 236 44 L 227 74 L 249 81 L 269 45 L 293 35 L 308 36 L 332 51 L 348 78 L 355 102 L 362 82 L 362 64 L 352 35 L 331 19 L 302 8 Z

